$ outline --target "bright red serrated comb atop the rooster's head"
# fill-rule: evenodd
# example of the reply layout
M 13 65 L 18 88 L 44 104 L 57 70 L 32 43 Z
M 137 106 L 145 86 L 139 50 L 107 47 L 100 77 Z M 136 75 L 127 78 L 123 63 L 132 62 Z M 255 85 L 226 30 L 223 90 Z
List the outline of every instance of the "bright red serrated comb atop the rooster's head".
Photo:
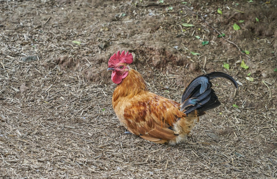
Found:
M 127 52 L 125 54 L 125 51 L 123 50 L 122 53 L 120 54 L 120 51 L 113 54 L 113 56 L 111 56 L 111 58 L 109 59 L 109 67 L 110 66 L 114 66 L 118 63 L 126 63 L 126 64 L 131 64 L 133 62 L 133 56 L 132 54 L 129 54 L 129 52 Z

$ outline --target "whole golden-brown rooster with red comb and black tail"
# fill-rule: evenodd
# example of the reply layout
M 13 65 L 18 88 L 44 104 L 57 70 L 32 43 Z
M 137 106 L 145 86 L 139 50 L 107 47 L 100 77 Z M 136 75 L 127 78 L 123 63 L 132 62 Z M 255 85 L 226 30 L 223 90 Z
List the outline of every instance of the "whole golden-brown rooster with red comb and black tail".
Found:
M 143 139 L 158 144 L 175 145 L 184 141 L 199 116 L 220 105 L 210 80 L 221 77 L 236 81 L 222 72 L 212 72 L 194 79 L 184 90 L 181 104 L 150 92 L 142 76 L 131 69 L 133 62 L 129 52 L 120 51 L 112 55 L 107 71 L 117 84 L 112 96 L 112 106 L 121 124 Z

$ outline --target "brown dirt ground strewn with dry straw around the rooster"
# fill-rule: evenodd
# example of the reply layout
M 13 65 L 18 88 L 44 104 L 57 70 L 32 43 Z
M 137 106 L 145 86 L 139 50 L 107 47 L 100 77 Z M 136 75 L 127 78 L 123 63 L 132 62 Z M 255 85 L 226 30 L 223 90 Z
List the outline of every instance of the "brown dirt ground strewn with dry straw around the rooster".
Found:
M 0 0 L 0 178 L 277 178 L 277 0 L 253 1 Z M 213 71 L 239 89 L 215 80 L 222 105 L 180 145 L 123 135 L 118 50 L 176 101 Z

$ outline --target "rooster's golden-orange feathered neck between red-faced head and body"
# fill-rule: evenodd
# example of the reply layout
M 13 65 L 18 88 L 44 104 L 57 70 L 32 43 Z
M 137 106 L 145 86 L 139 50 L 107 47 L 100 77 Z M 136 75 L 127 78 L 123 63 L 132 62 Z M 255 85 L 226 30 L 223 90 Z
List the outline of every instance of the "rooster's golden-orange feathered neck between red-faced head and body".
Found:
M 122 97 L 133 97 L 143 91 L 148 91 L 145 81 L 140 73 L 130 68 L 128 76 L 114 89 L 113 105 Z

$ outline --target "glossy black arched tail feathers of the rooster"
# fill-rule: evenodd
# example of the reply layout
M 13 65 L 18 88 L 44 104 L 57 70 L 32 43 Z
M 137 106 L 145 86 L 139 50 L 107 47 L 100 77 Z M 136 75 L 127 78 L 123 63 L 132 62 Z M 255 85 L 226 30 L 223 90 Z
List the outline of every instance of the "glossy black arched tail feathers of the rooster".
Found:
M 182 95 L 181 111 L 186 114 L 197 110 L 204 114 L 204 111 L 213 109 L 220 105 L 220 101 L 212 88 L 210 80 L 215 78 L 225 78 L 230 80 L 236 88 L 236 81 L 230 76 L 222 72 L 212 72 L 195 78 L 185 89 Z

